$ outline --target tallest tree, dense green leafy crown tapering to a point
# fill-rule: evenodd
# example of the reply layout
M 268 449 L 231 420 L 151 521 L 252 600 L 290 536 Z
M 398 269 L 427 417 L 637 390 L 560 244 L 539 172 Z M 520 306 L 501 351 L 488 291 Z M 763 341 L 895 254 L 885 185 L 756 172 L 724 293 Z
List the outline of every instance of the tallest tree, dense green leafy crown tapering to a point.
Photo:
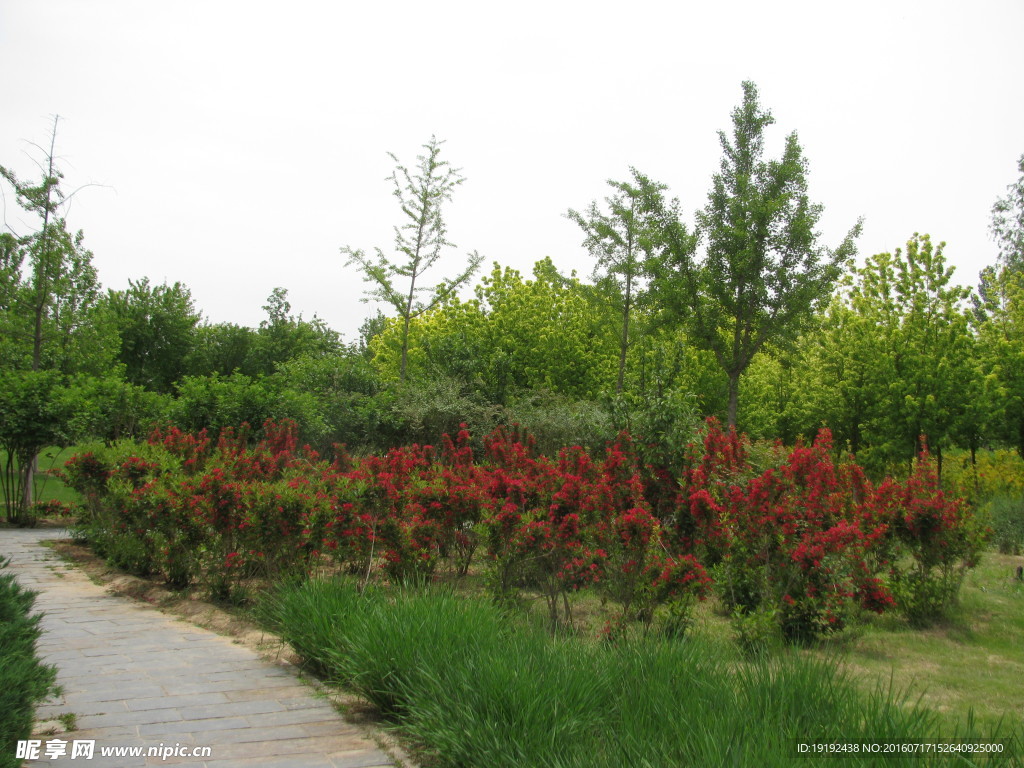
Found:
M 723 157 L 708 205 L 697 213 L 707 236 L 702 263 L 684 240 L 672 248 L 663 282 L 675 294 L 692 343 L 714 352 L 729 381 L 728 421 L 736 423 L 739 379 L 766 344 L 785 349 L 827 300 L 855 254 L 858 222 L 836 250 L 818 245 L 821 206 L 807 197 L 807 161 L 796 132 L 778 160 L 764 159 L 765 129 L 774 123 L 743 83 L 732 136 L 719 132 Z

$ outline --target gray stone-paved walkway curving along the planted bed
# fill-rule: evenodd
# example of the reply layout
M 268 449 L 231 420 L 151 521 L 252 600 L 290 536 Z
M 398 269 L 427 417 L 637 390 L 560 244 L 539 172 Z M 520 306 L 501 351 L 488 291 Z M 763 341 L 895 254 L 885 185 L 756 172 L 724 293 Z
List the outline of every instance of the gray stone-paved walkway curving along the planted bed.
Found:
M 48 549 L 60 530 L 0 530 L 0 555 L 17 581 L 39 593 L 44 611 L 40 655 L 58 668 L 62 697 L 40 720 L 73 713 L 77 730 L 47 740 L 68 754 L 26 766 L 145 766 L 179 764 L 373 768 L 393 762 L 346 723 L 312 688 L 284 666 L 213 632 L 112 595 Z M 91 760 L 73 759 L 74 740 L 94 740 Z M 141 746 L 141 757 L 102 757 L 102 748 Z M 210 757 L 190 750 L 209 746 Z M 144 755 L 176 749 L 187 757 Z M 171 753 L 168 753 L 171 754 Z

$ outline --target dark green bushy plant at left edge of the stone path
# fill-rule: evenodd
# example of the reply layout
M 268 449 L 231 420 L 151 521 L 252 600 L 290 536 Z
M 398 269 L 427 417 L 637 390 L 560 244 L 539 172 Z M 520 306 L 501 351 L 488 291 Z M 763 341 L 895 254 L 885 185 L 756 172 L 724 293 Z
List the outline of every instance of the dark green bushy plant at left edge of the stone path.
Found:
M 9 563 L 0 557 L 0 768 L 20 765 L 17 741 L 29 738 L 36 705 L 54 692 L 56 679 L 56 669 L 36 655 L 42 633 L 40 614 L 32 614 L 36 593 L 2 572 Z

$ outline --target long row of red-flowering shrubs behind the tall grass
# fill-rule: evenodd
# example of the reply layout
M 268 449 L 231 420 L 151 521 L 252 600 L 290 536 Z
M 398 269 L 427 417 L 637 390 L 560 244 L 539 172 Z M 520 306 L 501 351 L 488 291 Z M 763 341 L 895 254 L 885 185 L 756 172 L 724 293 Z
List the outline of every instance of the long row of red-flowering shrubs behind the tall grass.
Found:
M 261 434 L 250 445 L 245 429 L 214 440 L 170 427 L 77 455 L 66 473 L 88 501 L 86 535 L 122 567 L 222 597 L 321 566 L 406 581 L 482 561 L 496 597 L 543 595 L 552 627 L 589 589 L 621 607 L 609 631 L 656 614 L 679 632 L 714 582 L 737 621 L 767 614 L 790 639 L 863 609 L 941 613 L 981 544 L 927 455 L 906 481 L 876 485 L 833 461 L 827 431 L 755 453 L 712 421 L 674 468 L 625 433 L 603 457 L 548 459 L 503 429 L 474 451 L 462 429 L 438 447 L 332 462 L 299 449 L 291 423 Z

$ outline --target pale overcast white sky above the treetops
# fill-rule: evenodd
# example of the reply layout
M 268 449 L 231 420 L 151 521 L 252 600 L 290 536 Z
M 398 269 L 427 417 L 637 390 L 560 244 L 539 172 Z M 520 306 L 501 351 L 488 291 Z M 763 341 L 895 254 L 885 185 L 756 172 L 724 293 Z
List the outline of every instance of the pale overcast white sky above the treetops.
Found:
M 928 232 L 974 285 L 1024 155 L 1021 30 L 1021 0 L 2 0 L 0 165 L 38 178 L 59 115 L 104 288 L 181 282 L 208 322 L 256 326 L 282 287 L 354 341 L 376 307 L 340 249 L 393 254 L 388 153 L 414 165 L 436 136 L 466 179 L 428 279 L 469 251 L 585 278 L 565 212 L 635 167 L 692 222 L 752 80 L 769 156 L 798 133 L 821 243 L 859 217 L 861 258 Z

